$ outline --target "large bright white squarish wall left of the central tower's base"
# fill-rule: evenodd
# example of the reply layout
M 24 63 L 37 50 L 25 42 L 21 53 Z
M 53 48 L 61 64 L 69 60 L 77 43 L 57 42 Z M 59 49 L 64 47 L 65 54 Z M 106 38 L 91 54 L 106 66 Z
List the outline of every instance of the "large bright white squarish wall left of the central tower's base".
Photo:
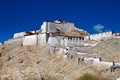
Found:
M 37 43 L 37 35 L 25 36 L 23 45 L 35 45 Z

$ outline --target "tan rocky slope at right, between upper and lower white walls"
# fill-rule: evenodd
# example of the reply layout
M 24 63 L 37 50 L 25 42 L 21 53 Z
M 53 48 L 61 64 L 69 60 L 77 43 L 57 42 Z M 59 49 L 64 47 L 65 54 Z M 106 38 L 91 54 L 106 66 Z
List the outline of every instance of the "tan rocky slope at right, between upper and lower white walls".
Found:
M 97 56 L 105 61 L 120 62 L 120 39 L 112 38 L 102 41 L 90 50 L 96 52 Z

